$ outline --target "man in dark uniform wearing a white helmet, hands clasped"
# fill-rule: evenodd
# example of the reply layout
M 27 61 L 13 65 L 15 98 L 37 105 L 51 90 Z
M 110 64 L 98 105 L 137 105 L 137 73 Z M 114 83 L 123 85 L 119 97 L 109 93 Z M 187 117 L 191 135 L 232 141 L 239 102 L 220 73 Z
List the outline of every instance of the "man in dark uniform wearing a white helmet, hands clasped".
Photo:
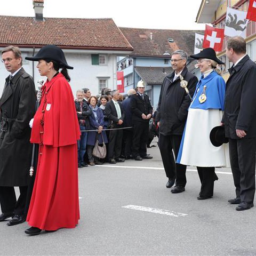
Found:
M 137 94 L 131 96 L 133 124 L 132 155 L 136 161 L 153 158 L 147 155 L 149 119 L 152 117 L 153 108 L 148 95 L 144 91 L 144 82 L 141 80 L 137 84 Z

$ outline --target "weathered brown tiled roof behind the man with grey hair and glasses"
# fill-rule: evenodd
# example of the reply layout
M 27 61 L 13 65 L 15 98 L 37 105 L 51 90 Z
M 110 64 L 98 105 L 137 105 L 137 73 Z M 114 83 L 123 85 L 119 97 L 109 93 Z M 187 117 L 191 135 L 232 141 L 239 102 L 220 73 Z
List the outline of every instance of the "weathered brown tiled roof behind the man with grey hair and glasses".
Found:
M 195 33 L 204 32 L 202 30 L 119 28 L 134 48 L 131 55 L 162 56 L 165 52 L 171 54 L 178 49 L 190 55 L 194 53 Z M 169 42 L 168 38 L 172 38 L 174 42 Z

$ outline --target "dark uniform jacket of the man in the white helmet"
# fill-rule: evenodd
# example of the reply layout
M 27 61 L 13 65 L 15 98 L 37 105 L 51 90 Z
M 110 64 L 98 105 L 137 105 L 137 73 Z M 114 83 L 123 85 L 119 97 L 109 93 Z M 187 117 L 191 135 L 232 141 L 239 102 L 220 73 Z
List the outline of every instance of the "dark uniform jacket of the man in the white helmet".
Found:
M 131 110 L 132 110 L 132 123 L 137 122 L 149 122 L 149 119 L 142 119 L 141 115 L 145 114 L 153 114 L 153 108 L 149 101 L 148 95 L 143 94 L 144 98 L 142 99 L 141 96 L 137 93 L 131 95 Z

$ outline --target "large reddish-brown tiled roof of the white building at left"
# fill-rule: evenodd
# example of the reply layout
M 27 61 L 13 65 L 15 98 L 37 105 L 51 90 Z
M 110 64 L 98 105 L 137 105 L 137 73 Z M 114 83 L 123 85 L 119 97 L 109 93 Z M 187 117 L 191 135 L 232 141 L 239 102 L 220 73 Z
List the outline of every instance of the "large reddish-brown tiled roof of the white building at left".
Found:
M 41 47 L 55 44 L 63 48 L 132 50 L 132 46 L 112 19 L 44 18 L 0 15 L 0 46 Z

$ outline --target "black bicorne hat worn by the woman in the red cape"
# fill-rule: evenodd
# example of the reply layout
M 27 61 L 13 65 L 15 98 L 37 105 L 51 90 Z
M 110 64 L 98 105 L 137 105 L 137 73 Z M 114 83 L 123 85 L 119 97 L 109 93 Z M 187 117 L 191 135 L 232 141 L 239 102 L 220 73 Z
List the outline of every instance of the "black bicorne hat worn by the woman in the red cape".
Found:
M 34 57 L 26 57 L 26 60 L 55 60 L 60 63 L 61 68 L 73 69 L 73 67 L 68 66 L 65 55 L 60 47 L 56 45 L 45 45 Z

